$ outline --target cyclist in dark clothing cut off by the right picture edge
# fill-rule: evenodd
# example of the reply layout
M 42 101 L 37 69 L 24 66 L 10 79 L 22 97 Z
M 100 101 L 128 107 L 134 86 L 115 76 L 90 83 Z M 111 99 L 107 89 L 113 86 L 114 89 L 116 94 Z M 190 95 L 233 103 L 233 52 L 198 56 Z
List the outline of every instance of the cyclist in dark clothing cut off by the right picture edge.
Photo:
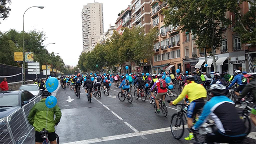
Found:
M 254 104 L 256 104 L 256 73 L 248 74 L 248 79 L 250 80 L 250 83 L 243 88 L 240 96 L 247 96 L 247 93 L 250 92 L 253 95 Z M 256 126 L 256 107 L 252 109 L 250 116 L 253 124 Z

